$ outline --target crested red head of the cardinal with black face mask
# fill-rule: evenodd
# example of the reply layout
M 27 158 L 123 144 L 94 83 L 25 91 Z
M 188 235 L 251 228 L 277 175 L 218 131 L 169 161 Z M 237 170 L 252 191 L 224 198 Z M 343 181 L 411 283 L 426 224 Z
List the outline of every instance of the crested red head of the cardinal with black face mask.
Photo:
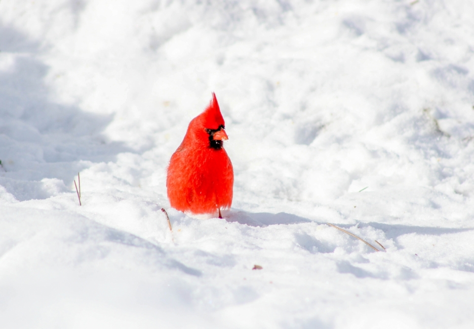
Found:
M 188 131 L 192 131 L 200 144 L 206 144 L 210 148 L 220 150 L 223 141 L 229 139 L 225 128 L 226 125 L 216 95 L 212 93 L 211 103 L 204 112 L 191 121 Z

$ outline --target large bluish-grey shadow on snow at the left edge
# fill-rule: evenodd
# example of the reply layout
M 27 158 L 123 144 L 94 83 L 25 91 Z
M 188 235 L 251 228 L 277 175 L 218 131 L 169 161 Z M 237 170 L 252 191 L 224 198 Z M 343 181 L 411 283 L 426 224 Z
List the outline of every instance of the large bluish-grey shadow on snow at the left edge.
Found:
M 48 198 L 37 186 L 43 178 L 69 186 L 87 161 L 133 152 L 102 135 L 113 116 L 50 100 L 38 53 L 40 45 L 0 22 L 0 185 L 19 201 Z

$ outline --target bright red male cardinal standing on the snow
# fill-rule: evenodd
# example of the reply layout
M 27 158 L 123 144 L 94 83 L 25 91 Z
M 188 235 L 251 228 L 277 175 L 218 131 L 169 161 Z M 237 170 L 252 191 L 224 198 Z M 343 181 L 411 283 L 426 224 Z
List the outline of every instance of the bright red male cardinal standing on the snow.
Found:
M 166 188 L 171 206 L 194 214 L 230 208 L 234 169 L 223 147 L 228 136 L 216 95 L 191 120 L 181 145 L 171 156 Z

